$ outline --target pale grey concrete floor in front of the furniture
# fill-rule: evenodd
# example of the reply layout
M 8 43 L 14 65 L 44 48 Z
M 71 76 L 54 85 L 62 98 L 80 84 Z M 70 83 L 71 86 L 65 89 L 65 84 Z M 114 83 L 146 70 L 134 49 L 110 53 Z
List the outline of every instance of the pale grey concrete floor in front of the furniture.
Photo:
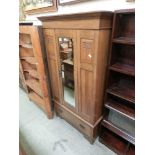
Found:
M 65 120 L 47 119 L 19 90 L 19 141 L 27 155 L 116 155 L 98 139 L 91 145 Z

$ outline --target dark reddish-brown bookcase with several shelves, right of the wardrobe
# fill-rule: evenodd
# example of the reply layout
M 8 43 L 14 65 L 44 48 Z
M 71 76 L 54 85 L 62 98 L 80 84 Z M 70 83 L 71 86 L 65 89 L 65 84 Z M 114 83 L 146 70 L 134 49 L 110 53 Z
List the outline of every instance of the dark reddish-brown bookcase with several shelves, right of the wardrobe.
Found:
M 116 10 L 99 141 L 120 155 L 135 154 L 135 10 Z

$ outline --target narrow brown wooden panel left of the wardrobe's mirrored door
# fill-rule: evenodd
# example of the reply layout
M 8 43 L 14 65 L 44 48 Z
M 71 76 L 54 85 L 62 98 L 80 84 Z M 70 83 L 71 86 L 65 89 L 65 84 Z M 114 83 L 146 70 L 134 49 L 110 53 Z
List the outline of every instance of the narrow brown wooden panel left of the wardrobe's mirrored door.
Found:
M 56 101 L 60 101 L 59 83 L 58 83 L 58 68 L 56 61 L 56 43 L 55 34 L 52 29 L 44 29 L 45 47 L 48 61 L 48 68 L 50 73 L 50 83 L 53 93 L 53 98 Z

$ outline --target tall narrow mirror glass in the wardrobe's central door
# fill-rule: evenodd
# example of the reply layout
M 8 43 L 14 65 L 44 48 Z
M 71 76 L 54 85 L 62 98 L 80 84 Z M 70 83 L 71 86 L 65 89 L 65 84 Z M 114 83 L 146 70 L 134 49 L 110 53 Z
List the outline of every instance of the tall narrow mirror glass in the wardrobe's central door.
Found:
M 61 77 L 63 81 L 64 100 L 75 107 L 74 97 L 74 52 L 71 38 L 59 38 Z

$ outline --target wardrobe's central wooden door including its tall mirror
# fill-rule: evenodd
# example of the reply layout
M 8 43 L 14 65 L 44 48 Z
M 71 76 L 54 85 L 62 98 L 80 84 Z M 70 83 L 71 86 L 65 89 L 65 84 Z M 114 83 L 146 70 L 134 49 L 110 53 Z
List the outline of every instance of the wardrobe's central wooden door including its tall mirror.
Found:
M 78 110 L 76 30 L 55 29 L 61 104 Z

